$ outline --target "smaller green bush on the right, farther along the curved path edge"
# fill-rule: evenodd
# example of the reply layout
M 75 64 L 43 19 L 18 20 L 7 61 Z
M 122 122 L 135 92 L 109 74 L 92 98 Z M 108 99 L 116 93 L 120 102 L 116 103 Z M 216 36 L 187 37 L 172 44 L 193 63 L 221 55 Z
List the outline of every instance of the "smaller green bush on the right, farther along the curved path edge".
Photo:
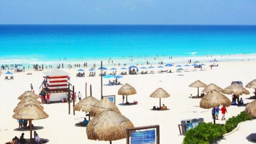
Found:
M 225 124 L 226 130 L 227 132 L 231 132 L 233 129 L 237 127 L 237 125 L 240 122 L 251 120 L 251 119 L 253 119 L 253 117 L 247 115 L 245 111 L 242 111 L 237 116 L 232 116 L 226 121 L 226 124 Z

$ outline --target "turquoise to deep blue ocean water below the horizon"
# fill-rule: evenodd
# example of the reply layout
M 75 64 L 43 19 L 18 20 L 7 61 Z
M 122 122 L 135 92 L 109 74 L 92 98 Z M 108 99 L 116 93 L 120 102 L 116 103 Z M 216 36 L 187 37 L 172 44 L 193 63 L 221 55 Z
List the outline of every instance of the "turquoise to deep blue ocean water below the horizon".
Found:
M 158 63 L 170 56 L 173 61 L 207 55 L 210 59 L 255 54 L 256 26 L 0 25 L 0 49 L 0 64 L 105 62 L 109 57 L 115 63 L 129 63 L 131 58 L 131 63 Z M 157 55 L 165 59 L 153 61 Z

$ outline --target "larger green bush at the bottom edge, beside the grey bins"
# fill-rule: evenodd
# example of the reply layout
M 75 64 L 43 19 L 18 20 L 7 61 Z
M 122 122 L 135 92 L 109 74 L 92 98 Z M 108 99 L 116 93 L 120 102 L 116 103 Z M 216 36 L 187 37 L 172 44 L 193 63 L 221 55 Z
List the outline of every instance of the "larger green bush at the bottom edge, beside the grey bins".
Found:
M 220 124 L 202 123 L 187 131 L 183 144 L 209 144 L 211 141 L 222 137 L 226 132 L 225 127 Z

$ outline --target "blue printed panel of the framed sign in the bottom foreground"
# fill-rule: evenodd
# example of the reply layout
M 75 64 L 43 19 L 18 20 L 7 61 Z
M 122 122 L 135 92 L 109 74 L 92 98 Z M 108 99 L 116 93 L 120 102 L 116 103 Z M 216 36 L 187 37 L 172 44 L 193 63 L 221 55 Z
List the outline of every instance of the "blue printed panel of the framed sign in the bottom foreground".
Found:
M 131 144 L 155 144 L 155 130 L 147 130 L 131 133 Z

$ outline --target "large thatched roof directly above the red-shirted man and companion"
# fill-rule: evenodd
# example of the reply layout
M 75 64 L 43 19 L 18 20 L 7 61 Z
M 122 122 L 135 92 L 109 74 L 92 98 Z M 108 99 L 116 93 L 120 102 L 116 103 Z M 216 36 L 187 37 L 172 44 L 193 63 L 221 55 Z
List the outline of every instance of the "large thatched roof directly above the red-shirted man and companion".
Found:
M 204 109 L 214 108 L 219 105 L 225 105 L 226 107 L 231 105 L 230 100 L 225 95 L 211 90 L 200 101 L 200 107 Z

